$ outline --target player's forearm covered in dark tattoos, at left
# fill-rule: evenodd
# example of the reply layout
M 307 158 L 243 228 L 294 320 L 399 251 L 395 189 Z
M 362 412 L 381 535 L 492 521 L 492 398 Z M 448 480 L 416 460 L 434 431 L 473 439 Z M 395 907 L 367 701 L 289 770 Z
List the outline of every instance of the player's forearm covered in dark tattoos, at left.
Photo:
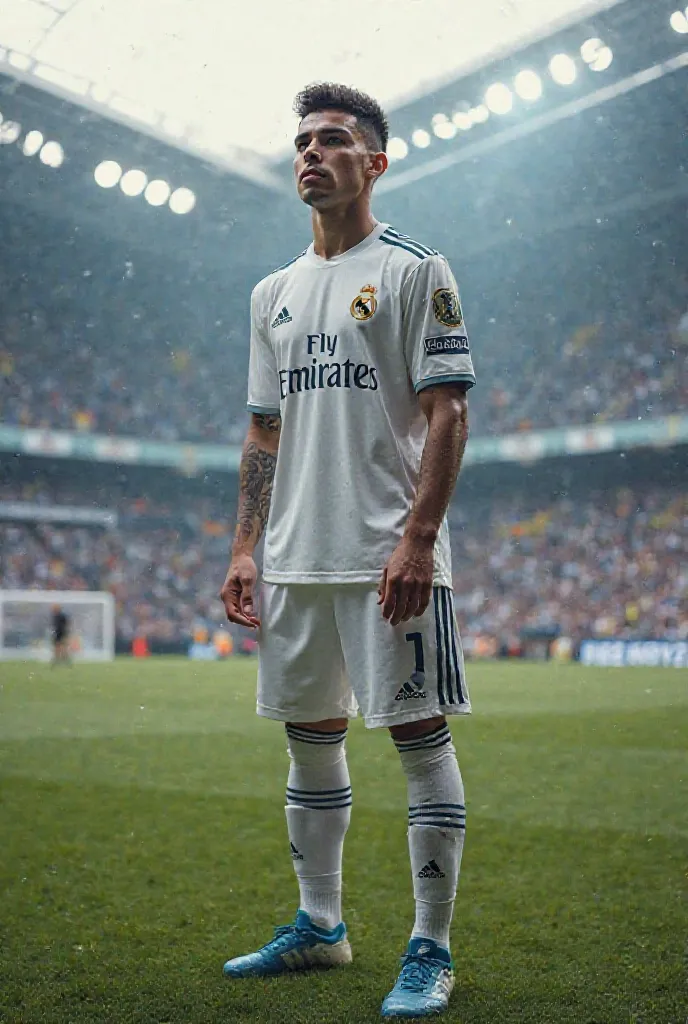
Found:
M 267 524 L 280 444 L 280 417 L 254 422 L 242 451 L 239 467 L 239 510 L 233 554 L 253 554 Z

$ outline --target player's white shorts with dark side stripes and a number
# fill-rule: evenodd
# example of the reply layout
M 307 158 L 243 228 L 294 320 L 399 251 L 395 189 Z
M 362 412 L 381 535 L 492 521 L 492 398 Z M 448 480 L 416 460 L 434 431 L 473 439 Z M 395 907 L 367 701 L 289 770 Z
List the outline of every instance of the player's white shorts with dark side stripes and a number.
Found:
M 390 626 L 369 584 L 263 584 L 258 714 L 280 722 L 355 718 L 368 728 L 468 715 L 448 587 Z

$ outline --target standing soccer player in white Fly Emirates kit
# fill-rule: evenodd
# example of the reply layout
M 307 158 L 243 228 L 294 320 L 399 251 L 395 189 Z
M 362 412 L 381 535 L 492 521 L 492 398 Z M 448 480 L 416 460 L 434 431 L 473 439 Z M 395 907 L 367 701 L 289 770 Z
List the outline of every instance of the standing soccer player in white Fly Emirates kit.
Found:
M 475 383 L 446 260 L 379 223 L 387 121 L 357 90 L 295 102 L 294 170 L 313 242 L 251 305 L 239 516 L 221 598 L 259 630 L 258 714 L 286 724 L 300 903 L 230 978 L 347 964 L 348 720 L 387 727 L 407 778 L 416 921 L 385 1017 L 446 1009 L 464 786 L 446 716 L 470 712 L 445 513 Z M 266 529 L 260 608 L 253 553 Z

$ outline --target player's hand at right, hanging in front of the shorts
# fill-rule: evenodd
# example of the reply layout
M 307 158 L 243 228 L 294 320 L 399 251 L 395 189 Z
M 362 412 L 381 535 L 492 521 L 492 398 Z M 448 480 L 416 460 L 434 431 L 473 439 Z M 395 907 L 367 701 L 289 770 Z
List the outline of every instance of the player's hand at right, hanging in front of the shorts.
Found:
M 390 626 L 422 615 L 432 597 L 434 542 L 401 538 L 384 569 L 378 604 Z

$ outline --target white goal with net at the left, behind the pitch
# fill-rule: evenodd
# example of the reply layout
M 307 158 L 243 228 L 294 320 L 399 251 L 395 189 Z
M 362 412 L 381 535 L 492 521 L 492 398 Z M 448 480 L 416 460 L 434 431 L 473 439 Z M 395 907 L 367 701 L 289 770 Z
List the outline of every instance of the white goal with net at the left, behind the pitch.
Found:
M 59 605 L 69 620 L 72 657 L 104 662 L 115 656 L 112 594 L 69 590 L 0 590 L 0 659 L 52 656 L 52 613 Z

